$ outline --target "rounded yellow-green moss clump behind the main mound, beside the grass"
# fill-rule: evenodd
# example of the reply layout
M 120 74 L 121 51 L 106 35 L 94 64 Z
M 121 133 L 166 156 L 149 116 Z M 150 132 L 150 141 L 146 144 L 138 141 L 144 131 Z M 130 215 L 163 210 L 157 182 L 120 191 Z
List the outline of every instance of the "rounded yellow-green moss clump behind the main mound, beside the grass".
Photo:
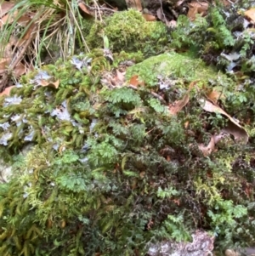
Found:
M 161 22 L 144 20 L 134 9 L 113 14 L 105 19 L 105 24 L 94 24 L 86 37 L 89 46 L 103 48 L 103 34 L 114 52 L 142 51 L 145 55 L 155 55 L 167 44 L 166 27 Z

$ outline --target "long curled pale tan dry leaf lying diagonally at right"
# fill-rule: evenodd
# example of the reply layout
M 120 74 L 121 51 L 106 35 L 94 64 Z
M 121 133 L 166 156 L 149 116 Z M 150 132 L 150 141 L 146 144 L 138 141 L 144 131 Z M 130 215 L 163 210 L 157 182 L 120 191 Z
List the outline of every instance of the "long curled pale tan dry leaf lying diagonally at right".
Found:
M 228 128 L 224 128 L 226 132 L 228 132 L 229 134 L 233 134 L 235 139 L 237 140 L 242 140 L 245 143 L 248 141 L 249 136 L 246 130 L 242 128 L 241 125 L 236 122 L 234 118 L 230 117 L 229 114 L 222 110 L 218 105 L 213 105 L 212 102 L 210 102 L 209 100 L 201 99 L 200 101 L 203 110 L 219 113 L 229 118 L 229 126 Z

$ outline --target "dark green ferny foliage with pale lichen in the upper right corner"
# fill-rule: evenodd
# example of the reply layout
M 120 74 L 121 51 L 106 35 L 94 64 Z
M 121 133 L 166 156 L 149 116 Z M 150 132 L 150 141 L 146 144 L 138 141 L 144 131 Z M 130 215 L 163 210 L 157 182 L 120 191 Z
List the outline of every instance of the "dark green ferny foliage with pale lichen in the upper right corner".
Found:
M 192 22 L 180 15 L 177 28 L 171 33 L 171 45 L 174 48 L 189 48 L 192 54 L 201 56 L 219 69 L 232 72 L 235 68 L 253 76 L 254 38 L 238 12 L 245 5 L 245 1 L 241 1 L 228 9 L 216 4 L 208 9 L 205 18 L 197 16 Z

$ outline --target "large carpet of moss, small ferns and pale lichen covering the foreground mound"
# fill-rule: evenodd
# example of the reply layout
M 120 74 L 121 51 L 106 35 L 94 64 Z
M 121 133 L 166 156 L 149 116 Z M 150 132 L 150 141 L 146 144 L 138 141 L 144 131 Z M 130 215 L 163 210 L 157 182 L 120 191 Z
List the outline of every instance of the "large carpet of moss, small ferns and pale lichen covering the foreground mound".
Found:
M 144 255 L 149 242 L 188 241 L 195 229 L 218 235 L 223 247 L 252 242 L 252 142 L 199 155 L 192 145 L 207 144 L 225 123 L 199 107 L 201 84 L 171 116 L 168 105 L 187 94 L 190 77 L 170 65 L 163 73 L 162 59 L 148 59 L 127 71 L 127 79 L 147 71 L 143 86 L 112 88 L 101 79 L 112 68 L 103 54 L 95 49 L 45 66 L 59 88 L 38 86 L 43 73 L 35 71 L 0 99 L 1 151 L 15 162 L 12 179 L 0 185 L 1 255 Z M 201 63 L 163 55 L 197 69 Z M 113 65 L 123 56 L 141 57 L 122 52 Z M 233 100 L 233 81 L 218 77 L 202 86 L 222 82 L 229 115 L 253 99 L 250 88 Z

